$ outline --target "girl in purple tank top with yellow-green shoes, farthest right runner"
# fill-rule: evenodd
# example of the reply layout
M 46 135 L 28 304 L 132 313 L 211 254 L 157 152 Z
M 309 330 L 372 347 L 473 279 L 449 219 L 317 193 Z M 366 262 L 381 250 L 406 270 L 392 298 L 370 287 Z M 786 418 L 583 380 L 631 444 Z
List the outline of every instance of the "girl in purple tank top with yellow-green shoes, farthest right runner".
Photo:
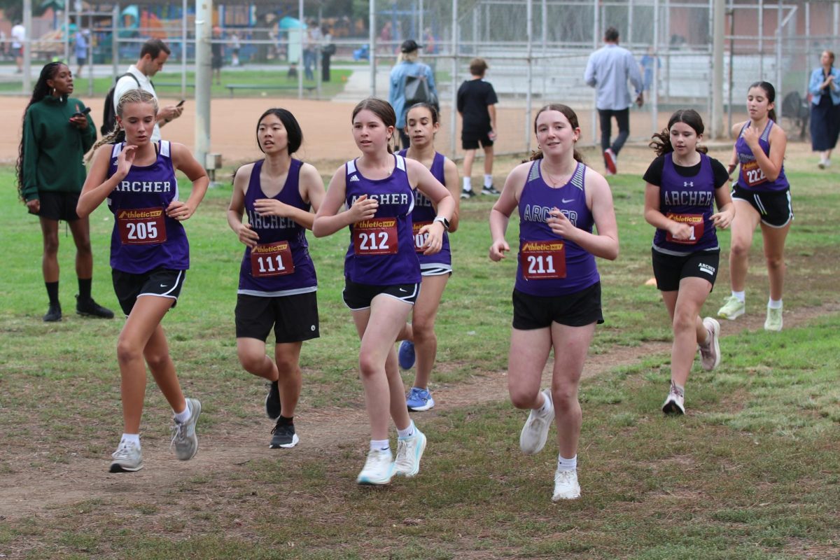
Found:
M 785 178 L 785 131 L 775 123 L 772 84 L 757 81 L 749 86 L 749 120 L 732 127 L 737 141 L 732 149 L 729 173 L 741 165 L 738 182 L 732 188 L 735 219 L 729 249 L 729 280 L 732 296 L 717 311 L 718 317 L 734 320 L 746 311 L 745 291 L 749 248 L 753 232 L 761 225 L 764 259 L 770 284 L 764 329 L 782 330 L 782 288 L 785 284 L 785 238 L 793 220 L 790 185 Z

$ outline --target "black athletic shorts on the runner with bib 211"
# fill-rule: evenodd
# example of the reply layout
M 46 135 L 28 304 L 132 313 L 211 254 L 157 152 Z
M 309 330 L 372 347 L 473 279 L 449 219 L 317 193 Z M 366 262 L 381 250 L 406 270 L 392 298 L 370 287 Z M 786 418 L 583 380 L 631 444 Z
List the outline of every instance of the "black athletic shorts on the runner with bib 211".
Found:
M 532 296 L 513 290 L 513 328 L 530 331 L 551 327 L 556 322 L 566 327 L 601 324 L 601 282 L 565 296 Z

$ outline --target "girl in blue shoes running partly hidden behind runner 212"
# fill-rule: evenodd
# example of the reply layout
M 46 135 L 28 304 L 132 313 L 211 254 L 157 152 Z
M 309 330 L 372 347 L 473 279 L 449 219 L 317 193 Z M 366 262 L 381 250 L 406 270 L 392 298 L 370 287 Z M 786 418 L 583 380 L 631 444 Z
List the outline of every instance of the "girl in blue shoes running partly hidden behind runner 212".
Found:
M 449 233 L 458 228 L 459 190 L 458 166 L 444 154 L 434 151 L 434 134 L 438 132 L 438 111 L 428 103 L 417 103 L 409 107 L 406 115 L 406 133 L 412 141 L 409 149 L 399 152 L 403 157 L 417 160 L 428 167 L 435 179 L 446 186 L 455 201 L 455 211 L 449 222 Z M 420 191 L 414 192 L 412 211 L 413 229 L 419 232 L 432 223 L 437 209 Z M 446 282 L 452 275 L 452 253 L 449 250 L 449 235 L 444 232 L 444 243 L 438 253 L 423 254 L 423 235 L 415 234 L 414 247 L 420 259 L 420 274 L 423 275 L 420 296 L 412 310 L 412 322 L 400 334 L 399 361 L 402 369 L 411 369 L 417 357 L 417 371 L 414 385 L 406 397 L 410 411 L 428 411 L 434 406 L 428 379 L 432 374 L 434 359 L 438 353 L 438 338 L 434 334 L 434 319 L 438 314 L 440 298 Z

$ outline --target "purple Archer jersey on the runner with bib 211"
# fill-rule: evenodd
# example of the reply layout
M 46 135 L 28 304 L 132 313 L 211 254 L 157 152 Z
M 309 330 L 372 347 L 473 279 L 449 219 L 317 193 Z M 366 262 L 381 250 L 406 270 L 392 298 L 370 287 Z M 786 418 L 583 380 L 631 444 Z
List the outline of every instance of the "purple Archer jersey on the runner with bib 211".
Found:
M 601 280 L 595 257 L 579 245 L 553 233 L 546 220 L 552 208 L 585 232 L 595 223 L 586 206 L 586 166 L 578 162 L 564 186 L 543 181 L 540 162 L 531 164 L 528 181 L 519 198 L 519 259 L 516 289 L 531 296 L 565 296 L 585 290 Z M 557 251 L 562 245 L 564 262 Z M 562 273 L 564 270 L 564 274 Z M 558 277 L 558 276 L 564 277 Z

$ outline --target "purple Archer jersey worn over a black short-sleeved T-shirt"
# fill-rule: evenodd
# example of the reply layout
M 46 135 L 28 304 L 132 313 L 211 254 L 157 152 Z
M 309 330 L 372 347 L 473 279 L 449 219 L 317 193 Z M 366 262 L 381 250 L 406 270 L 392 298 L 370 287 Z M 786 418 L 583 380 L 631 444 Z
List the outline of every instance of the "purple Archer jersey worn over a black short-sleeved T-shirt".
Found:
M 711 222 L 715 209 L 715 172 L 711 169 L 711 158 L 700 154 L 700 171 L 693 177 L 680 175 L 674 165 L 674 154 L 665 154 L 659 186 L 659 212 L 690 225 L 692 236 L 674 240 L 664 229 L 657 229 L 654 249 L 674 255 L 718 249 L 715 226 Z

